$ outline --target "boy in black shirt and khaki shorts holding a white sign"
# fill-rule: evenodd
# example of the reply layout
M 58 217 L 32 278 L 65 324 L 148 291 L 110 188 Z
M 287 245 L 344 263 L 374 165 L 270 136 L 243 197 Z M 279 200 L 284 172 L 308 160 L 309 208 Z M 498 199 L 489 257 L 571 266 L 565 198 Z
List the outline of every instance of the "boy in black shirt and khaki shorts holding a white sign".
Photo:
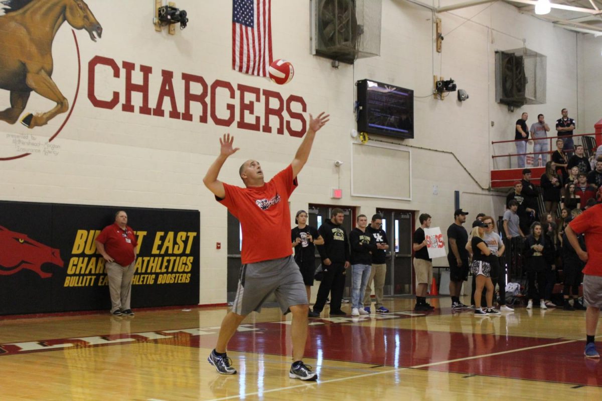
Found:
M 414 250 L 414 272 L 416 273 L 416 305 L 415 311 L 435 309 L 426 302 L 426 292 L 433 280 L 433 260 L 429 257 L 424 228 L 430 228 L 430 215 L 422 213 L 418 216 L 420 227 L 414 231 L 412 249 Z

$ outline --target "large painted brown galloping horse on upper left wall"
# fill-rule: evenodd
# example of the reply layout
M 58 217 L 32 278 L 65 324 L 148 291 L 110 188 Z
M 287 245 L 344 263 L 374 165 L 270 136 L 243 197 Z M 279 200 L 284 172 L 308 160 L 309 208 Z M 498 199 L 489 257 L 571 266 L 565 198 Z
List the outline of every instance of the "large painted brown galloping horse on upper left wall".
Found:
M 25 110 L 31 91 L 57 105 L 47 112 L 22 118 L 23 125 L 43 126 L 69 109 L 69 102 L 52 81 L 52 41 L 67 21 L 85 29 L 96 41 L 102 26 L 82 0 L 5 0 L 0 16 L 0 88 L 10 91 L 10 108 L 0 111 L 0 120 L 14 124 Z

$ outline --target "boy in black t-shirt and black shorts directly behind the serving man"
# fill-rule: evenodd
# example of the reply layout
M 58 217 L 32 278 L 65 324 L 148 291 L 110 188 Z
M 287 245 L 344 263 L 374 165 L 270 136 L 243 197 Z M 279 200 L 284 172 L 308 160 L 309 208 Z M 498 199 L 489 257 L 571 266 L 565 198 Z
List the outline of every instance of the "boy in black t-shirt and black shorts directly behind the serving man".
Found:
M 303 276 L 305 290 L 307 291 L 307 301 L 311 299 L 311 286 L 314 285 L 315 274 L 315 245 L 322 245 L 324 239 L 321 237 L 318 230 L 310 225 L 307 225 L 307 212 L 299 210 L 295 216 L 295 222 L 298 224 L 291 230 L 292 246 L 295 249 L 295 262 L 299 265 L 299 270 Z M 319 317 L 320 314 L 313 312 L 311 309 L 308 312 L 309 317 Z

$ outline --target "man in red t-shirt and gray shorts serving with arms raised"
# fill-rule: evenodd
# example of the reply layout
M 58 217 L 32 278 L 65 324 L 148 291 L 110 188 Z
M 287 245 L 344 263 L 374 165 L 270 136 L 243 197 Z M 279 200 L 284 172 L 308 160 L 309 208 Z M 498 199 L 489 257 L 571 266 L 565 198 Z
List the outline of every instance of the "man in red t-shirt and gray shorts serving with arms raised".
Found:
M 293 313 L 291 337 L 293 364 L 288 376 L 293 379 L 316 380 L 312 367 L 303 363 L 307 338 L 309 301 L 299 266 L 291 248 L 291 216 L 288 198 L 297 188 L 297 174 L 309 158 L 315 133 L 327 123 L 329 115 L 309 115 L 309 129 L 293 161 L 272 180 L 264 181 L 258 161 L 249 159 L 238 170 L 246 188 L 228 185 L 217 179 L 223 164 L 237 152 L 234 136 L 220 138 L 220 154 L 207 171 L 203 183 L 240 221 L 243 231 L 241 259 L 243 265 L 232 310 L 222 320 L 217 344 L 207 360 L 223 375 L 234 375 L 236 369 L 226 355 L 226 347 L 238 325 L 252 311 L 259 312 L 270 293 L 275 293 L 282 313 Z

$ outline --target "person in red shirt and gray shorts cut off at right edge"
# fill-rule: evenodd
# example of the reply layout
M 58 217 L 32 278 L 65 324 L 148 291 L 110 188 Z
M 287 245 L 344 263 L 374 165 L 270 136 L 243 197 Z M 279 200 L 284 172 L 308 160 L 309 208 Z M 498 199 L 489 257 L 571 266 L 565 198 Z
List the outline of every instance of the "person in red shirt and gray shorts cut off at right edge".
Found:
M 586 262 L 583 269 L 583 301 L 588 307 L 585 312 L 585 356 L 600 358 L 594 338 L 602 307 L 602 205 L 589 207 L 574 218 L 566 227 L 565 234 L 579 259 Z M 587 251 L 579 245 L 576 234 L 584 234 Z

